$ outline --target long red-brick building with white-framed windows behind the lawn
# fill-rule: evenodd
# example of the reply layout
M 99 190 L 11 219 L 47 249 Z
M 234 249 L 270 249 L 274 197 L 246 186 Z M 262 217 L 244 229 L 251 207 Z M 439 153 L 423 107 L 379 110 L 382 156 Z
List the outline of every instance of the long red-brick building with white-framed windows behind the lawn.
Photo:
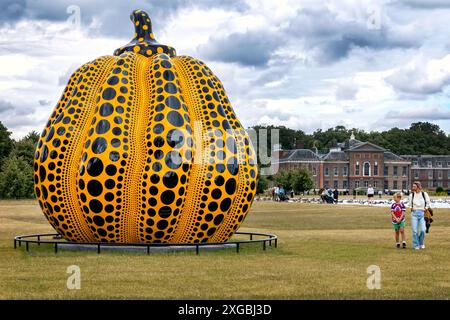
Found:
M 399 156 L 352 135 L 328 153 L 317 150 L 278 150 L 279 170 L 307 168 L 314 187 L 336 188 L 340 191 L 367 188 L 377 190 L 410 190 L 414 180 L 424 188 L 450 188 L 450 156 Z

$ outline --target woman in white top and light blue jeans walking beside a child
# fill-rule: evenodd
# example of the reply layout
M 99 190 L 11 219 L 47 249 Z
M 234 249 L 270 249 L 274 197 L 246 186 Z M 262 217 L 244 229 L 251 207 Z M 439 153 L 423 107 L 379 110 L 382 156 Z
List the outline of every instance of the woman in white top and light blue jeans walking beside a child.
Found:
M 409 205 L 411 207 L 411 228 L 412 244 L 414 249 L 425 249 L 425 218 L 424 212 L 430 208 L 430 197 L 428 193 L 422 191 L 419 181 L 414 181 L 412 192 L 409 195 Z

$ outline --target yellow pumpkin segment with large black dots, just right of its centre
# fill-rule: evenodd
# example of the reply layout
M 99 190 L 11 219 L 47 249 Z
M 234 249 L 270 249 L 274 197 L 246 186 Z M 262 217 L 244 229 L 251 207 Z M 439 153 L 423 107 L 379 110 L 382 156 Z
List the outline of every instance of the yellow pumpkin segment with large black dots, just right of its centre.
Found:
M 192 162 L 192 129 L 188 109 L 173 61 L 166 54 L 149 60 L 146 83 L 150 87 L 146 160 L 142 171 L 139 238 L 141 241 L 171 241 L 185 204 Z M 181 143 L 176 137 L 182 138 Z M 172 163 L 176 155 L 181 163 Z

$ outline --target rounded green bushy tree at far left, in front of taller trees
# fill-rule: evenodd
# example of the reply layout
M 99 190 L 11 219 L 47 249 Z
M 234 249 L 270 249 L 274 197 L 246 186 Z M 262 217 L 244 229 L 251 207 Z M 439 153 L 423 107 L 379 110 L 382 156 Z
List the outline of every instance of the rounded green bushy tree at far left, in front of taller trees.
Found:
M 33 198 L 33 168 L 22 157 L 11 154 L 0 172 L 0 198 Z

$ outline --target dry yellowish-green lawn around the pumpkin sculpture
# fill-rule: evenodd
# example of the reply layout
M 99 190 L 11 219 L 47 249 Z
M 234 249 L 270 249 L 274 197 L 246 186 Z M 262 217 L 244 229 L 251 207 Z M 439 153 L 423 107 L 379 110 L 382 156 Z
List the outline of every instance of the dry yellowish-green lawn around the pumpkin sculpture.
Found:
M 278 248 L 141 253 L 14 250 L 14 235 L 53 232 L 35 201 L 0 201 L 1 299 L 448 299 L 450 209 L 437 209 L 427 249 L 394 248 L 386 208 L 256 202 L 242 231 Z M 408 220 L 409 224 L 409 220 Z M 411 230 L 407 224 L 408 245 Z M 81 290 L 68 290 L 69 265 Z M 369 290 L 369 265 L 381 289 Z

